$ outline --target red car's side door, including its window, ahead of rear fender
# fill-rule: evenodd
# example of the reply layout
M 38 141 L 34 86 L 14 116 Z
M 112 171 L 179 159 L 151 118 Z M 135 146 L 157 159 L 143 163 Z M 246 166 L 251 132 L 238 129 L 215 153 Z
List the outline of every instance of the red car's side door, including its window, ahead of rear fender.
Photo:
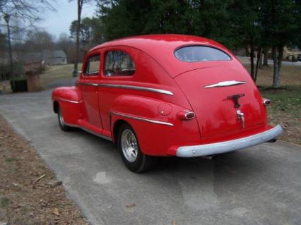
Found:
M 102 121 L 99 111 L 97 85 L 100 78 L 100 52 L 93 51 L 86 58 L 81 73 L 81 79 L 78 81 L 78 87 L 81 90 L 83 98 L 83 119 L 91 128 L 102 129 Z

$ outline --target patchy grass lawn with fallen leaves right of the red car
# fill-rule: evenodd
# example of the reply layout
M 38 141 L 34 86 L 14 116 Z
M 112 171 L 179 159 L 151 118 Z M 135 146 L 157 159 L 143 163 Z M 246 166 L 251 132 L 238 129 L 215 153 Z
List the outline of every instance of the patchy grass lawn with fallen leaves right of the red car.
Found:
M 249 70 L 249 65 L 245 65 Z M 284 133 L 281 140 L 301 145 L 301 66 L 281 68 L 281 88 L 271 89 L 273 68 L 259 70 L 257 85 L 263 97 L 272 100 L 268 107 L 271 125 L 280 124 Z

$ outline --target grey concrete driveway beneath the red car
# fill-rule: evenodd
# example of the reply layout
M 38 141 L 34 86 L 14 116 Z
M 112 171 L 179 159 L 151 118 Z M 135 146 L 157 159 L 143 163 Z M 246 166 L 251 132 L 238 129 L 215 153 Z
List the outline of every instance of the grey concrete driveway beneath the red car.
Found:
M 300 224 L 300 146 L 278 141 L 214 160 L 164 158 L 155 170 L 133 174 L 111 142 L 61 131 L 50 94 L 1 95 L 0 113 L 91 224 Z

